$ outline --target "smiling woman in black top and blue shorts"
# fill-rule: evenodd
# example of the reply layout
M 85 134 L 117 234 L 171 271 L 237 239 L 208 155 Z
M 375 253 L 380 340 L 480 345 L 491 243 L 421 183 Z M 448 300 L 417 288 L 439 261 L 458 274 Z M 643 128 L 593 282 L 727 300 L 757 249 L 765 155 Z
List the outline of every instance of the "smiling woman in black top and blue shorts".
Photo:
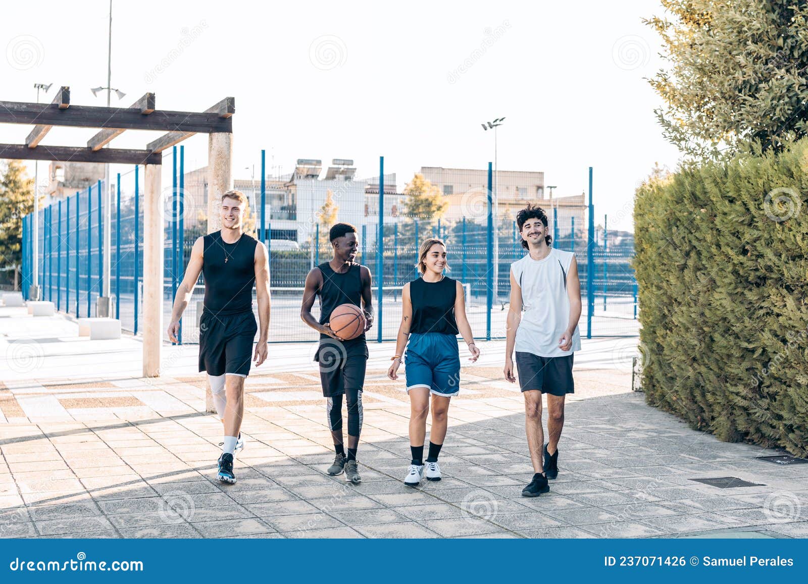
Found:
M 387 372 L 390 379 L 398 379 L 401 355 L 406 347 L 404 370 L 406 392 L 410 396 L 412 453 L 404 477 L 404 484 L 408 486 L 419 485 L 424 474 L 429 481 L 440 481 L 438 454 L 446 437 L 449 400 L 460 391 L 457 334 L 462 334 L 469 345 L 469 361 L 476 361 L 480 355 L 465 317 L 463 285 L 445 276 L 447 269 L 444 242 L 440 239 L 423 242 L 418 260 L 421 277 L 404 284 L 402 290 L 402 324 L 398 327 L 396 355 Z M 430 394 L 432 429 L 424 464 L 423 443 L 427 435 Z

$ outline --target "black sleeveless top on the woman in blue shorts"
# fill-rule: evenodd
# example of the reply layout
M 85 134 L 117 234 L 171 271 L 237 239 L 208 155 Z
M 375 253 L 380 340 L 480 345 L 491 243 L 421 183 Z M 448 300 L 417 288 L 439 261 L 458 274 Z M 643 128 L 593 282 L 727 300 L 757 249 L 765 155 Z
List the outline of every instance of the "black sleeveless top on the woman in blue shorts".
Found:
M 454 317 L 456 298 L 456 279 L 444 276 L 439 282 L 427 282 L 423 278 L 410 282 L 410 333 L 457 334 L 459 331 Z

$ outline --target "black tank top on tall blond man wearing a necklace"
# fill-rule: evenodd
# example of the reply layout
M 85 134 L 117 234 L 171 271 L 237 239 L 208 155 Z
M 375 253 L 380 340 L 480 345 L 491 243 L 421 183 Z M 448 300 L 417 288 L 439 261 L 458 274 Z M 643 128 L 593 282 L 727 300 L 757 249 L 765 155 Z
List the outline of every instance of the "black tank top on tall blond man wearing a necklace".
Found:
M 204 236 L 204 312 L 252 312 L 256 245 L 258 240 L 246 233 L 235 243 L 225 243 L 221 231 Z

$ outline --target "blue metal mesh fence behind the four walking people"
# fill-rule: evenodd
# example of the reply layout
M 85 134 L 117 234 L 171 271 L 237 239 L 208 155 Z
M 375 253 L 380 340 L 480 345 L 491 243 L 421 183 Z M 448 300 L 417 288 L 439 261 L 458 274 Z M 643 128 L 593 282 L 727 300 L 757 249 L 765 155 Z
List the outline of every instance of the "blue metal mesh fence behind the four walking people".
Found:
M 265 151 L 261 151 L 262 179 L 260 196 L 255 193 L 254 203 L 259 206 L 255 213 L 255 236 L 264 242 L 270 251 L 270 278 L 272 289 L 271 341 L 308 341 L 316 337 L 298 316 L 302 287 L 306 273 L 322 261 L 330 258 L 325 234 L 329 225 L 320 225 L 317 208 L 309 206 L 311 216 L 306 220 L 301 212 L 301 193 L 297 193 L 297 210 L 284 214 L 271 208 L 267 196 L 267 172 Z M 165 271 L 164 271 L 164 317 L 166 325 L 179 281 L 183 278 L 191 246 L 204 222 L 190 221 L 186 229 L 188 212 L 204 205 L 200 193 L 186 192 L 184 149 L 174 148 L 166 153 L 163 168 L 170 169 L 170 193 L 166 189 Z M 116 314 L 124 330 L 139 332 L 139 313 L 142 299 L 143 256 L 141 246 L 142 201 L 141 169 L 139 166 L 127 173 L 116 175 L 115 192 L 112 196 L 112 249 L 111 292 L 116 296 Z M 489 163 L 486 184 L 482 186 L 482 212 L 454 218 L 415 216 L 402 213 L 395 207 L 401 201 L 393 181 L 385 191 L 385 158 L 379 159 L 377 177 L 361 182 L 365 187 L 359 192 L 372 200 L 377 196 L 377 208 L 368 212 L 365 206 L 364 220 L 357 225 L 360 233 L 360 258 L 371 270 L 374 278 L 374 304 L 377 309 L 375 323 L 377 341 L 396 337 L 401 317 L 400 289 L 406 282 L 418 276 L 415 268 L 419 242 L 424 237 L 441 237 L 448 244 L 450 275 L 460 279 L 467 293 L 467 313 L 472 330 L 477 338 L 503 338 L 505 317 L 510 294 L 509 271 L 512 262 L 526 253 L 521 246 L 520 235 L 513 216 L 500 213 L 494 216 L 493 168 Z M 166 183 L 167 184 L 167 183 Z M 76 192 L 65 200 L 54 202 L 40 210 L 36 217 L 23 217 L 23 294 L 27 296 L 32 283 L 32 225 L 39 222 L 39 279 L 42 297 L 53 300 L 57 309 L 75 317 L 95 316 L 95 302 L 103 294 L 103 208 L 102 192 L 105 186 L 99 182 L 84 191 Z M 377 188 L 377 195 L 365 195 L 366 188 Z M 586 208 L 586 233 L 581 218 L 583 210 L 570 212 L 556 207 L 549 213 L 552 221 L 553 246 L 573 251 L 579 264 L 584 310 L 581 320 L 582 336 L 635 335 L 637 326 L 637 284 L 633 277 L 631 259 L 633 241 L 609 233 L 604 217 L 604 227 L 595 233 L 595 207 L 592 194 L 592 170 L 589 170 L 589 200 Z M 335 186 L 339 189 L 339 185 Z M 393 189 L 391 191 L 391 189 Z M 371 191 L 372 192 L 372 191 Z M 339 192 L 338 192 L 339 194 Z M 366 199 L 368 200 L 368 199 Z M 346 208 L 351 201 L 340 200 Z M 320 204 L 320 203 L 318 203 Z M 392 211 L 391 211 L 392 209 Z M 273 231 L 273 217 L 296 217 L 299 233 L 309 229 L 307 237 L 298 237 L 294 245 L 282 246 L 275 233 L 287 233 L 283 229 Z M 579 224 L 576 226 L 576 216 Z M 190 217 L 190 215 L 189 215 Z M 344 221 L 341 217 L 339 221 Z M 282 220 L 278 220 L 279 223 Z M 284 225 L 286 225 L 284 223 Z M 284 227 L 281 225 L 281 227 Z M 285 229 L 285 227 L 284 227 Z M 600 229 L 600 228 L 599 228 Z M 494 270 L 494 237 L 499 243 L 499 270 Z M 494 286 L 494 281 L 496 286 Z M 180 342 L 196 342 L 196 301 L 201 300 L 203 283 L 197 283 L 194 296 L 183 317 Z M 497 290 L 494 295 L 494 289 Z M 167 339 L 166 339 L 167 340 Z

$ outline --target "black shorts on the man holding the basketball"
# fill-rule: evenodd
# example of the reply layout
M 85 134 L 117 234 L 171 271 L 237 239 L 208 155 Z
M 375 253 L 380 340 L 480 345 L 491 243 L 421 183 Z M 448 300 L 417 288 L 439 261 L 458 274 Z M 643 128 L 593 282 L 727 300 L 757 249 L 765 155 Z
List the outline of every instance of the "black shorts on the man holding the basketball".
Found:
M 323 397 L 343 395 L 346 389 L 362 390 L 364 372 L 368 368 L 368 343 L 339 342 L 322 338 L 314 360 L 320 364 Z

